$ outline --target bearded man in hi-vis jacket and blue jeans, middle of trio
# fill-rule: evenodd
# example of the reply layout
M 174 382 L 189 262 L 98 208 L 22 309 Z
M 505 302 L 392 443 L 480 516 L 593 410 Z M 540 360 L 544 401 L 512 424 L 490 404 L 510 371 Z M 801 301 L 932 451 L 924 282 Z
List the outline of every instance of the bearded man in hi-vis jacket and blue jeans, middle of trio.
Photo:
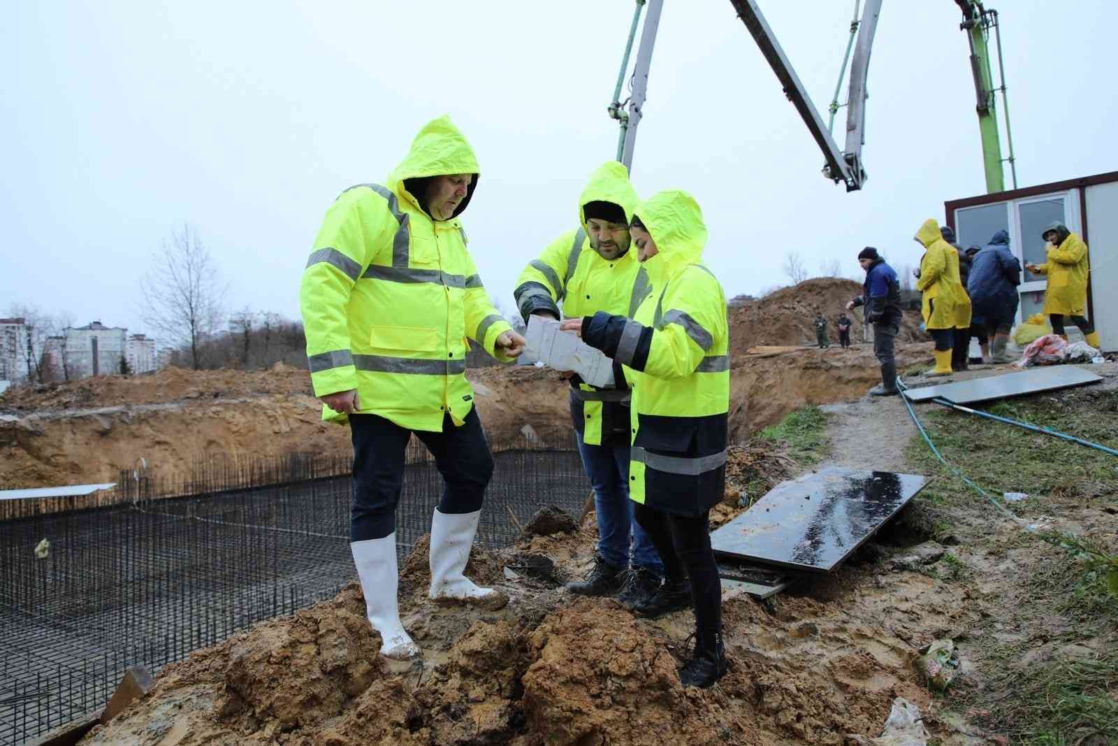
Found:
M 647 276 L 629 251 L 628 221 L 636 204 L 636 190 L 622 163 L 609 161 L 590 174 L 578 199 L 579 227 L 551 242 L 520 274 L 513 294 L 524 321 L 532 314 L 559 319 L 560 303 L 566 317 L 598 311 L 633 314 L 648 293 Z M 577 374 L 570 378 L 571 423 L 582 469 L 594 487 L 598 544 L 589 574 L 567 587 L 589 596 L 616 593 L 618 601 L 632 606 L 660 586 L 663 564 L 648 535 L 633 520 L 629 389 L 622 376 L 615 379 L 615 388 L 598 389 Z

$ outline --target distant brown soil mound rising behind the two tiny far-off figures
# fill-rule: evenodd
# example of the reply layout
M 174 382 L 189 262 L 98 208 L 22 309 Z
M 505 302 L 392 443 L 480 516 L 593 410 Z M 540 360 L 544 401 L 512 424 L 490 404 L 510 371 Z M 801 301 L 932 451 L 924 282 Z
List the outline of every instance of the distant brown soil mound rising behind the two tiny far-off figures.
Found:
M 745 301 L 730 310 L 730 355 L 743 355 L 759 344 L 814 344 L 815 314 L 827 320 L 827 336 L 839 343 L 839 314 L 845 312 L 853 322 L 852 340 L 862 339 L 862 311 L 846 311 L 846 302 L 862 294 L 862 285 L 842 277 L 814 277 L 798 285 L 781 287 L 765 298 Z M 920 314 L 906 312 L 900 342 L 923 341 Z

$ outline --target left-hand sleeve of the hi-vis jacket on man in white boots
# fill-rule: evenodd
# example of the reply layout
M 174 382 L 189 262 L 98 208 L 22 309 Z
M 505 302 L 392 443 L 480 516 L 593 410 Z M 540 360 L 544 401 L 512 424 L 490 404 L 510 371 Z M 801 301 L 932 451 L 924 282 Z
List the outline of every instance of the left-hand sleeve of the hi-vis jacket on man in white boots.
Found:
M 322 220 L 299 292 L 315 396 L 357 388 L 345 306 L 398 225 L 388 202 L 361 188 L 342 193 Z

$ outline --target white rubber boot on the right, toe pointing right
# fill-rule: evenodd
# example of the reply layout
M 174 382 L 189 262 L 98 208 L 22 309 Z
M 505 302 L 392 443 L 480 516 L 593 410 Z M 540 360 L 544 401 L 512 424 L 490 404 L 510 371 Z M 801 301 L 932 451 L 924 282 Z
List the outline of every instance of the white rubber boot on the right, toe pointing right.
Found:
M 470 561 L 470 548 L 477 532 L 482 511 L 440 513 L 430 519 L 430 597 L 439 604 L 471 604 L 501 608 L 509 596 L 493 588 L 480 588 L 463 572 Z

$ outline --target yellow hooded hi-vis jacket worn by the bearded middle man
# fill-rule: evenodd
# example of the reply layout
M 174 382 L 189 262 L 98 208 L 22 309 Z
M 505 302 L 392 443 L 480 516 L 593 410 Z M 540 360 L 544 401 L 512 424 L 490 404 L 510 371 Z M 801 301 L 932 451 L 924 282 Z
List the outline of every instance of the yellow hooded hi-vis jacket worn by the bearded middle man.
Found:
M 560 303 L 563 318 L 596 311 L 632 317 L 648 294 L 647 275 L 641 271 L 636 249 L 605 259 L 590 246 L 582 208 L 594 201 L 613 202 L 625 210 L 626 221 L 632 219 L 638 198 L 624 164 L 608 161 L 595 169 L 578 198 L 580 227 L 548 244 L 520 273 L 513 295 L 524 321 L 539 310 L 559 317 Z M 571 387 L 571 422 L 584 442 L 601 445 L 614 435 L 628 442 L 628 409 L 622 404 L 628 402 L 628 389 L 603 391 L 577 376 Z

